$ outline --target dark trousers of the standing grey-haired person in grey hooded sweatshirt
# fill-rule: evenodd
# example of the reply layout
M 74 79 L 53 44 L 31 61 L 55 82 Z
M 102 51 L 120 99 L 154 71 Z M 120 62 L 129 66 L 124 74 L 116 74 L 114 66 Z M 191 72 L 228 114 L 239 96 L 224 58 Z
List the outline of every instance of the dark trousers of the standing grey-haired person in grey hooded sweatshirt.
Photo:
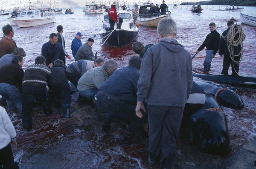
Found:
M 148 105 L 149 158 L 159 161 L 175 156 L 176 138 L 183 116 L 182 107 Z

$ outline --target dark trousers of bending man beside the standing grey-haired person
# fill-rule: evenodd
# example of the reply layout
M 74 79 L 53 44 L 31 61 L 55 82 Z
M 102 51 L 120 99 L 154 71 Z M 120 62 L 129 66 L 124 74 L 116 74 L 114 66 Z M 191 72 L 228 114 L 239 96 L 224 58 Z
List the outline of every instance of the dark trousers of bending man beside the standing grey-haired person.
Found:
M 143 117 L 137 117 L 135 113 L 136 105 L 128 103 L 117 102 L 105 95 L 96 95 L 96 106 L 106 112 L 105 124 L 110 124 L 112 117 L 116 117 L 125 123 L 129 123 L 129 127 L 126 131 L 136 134 L 143 130 L 143 123 L 145 122 L 147 115 L 142 112 Z

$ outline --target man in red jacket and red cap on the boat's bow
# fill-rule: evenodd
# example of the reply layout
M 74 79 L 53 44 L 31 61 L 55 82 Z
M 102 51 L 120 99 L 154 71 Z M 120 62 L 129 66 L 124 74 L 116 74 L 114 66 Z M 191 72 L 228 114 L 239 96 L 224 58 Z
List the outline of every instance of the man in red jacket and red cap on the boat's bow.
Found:
M 115 23 L 118 23 L 117 29 L 121 29 L 123 19 L 119 17 L 116 11 L 116 1 L 111 5 L 111 9 L 108 11 L 108 22 L 110 24 L 109 31 L 114 30 Z

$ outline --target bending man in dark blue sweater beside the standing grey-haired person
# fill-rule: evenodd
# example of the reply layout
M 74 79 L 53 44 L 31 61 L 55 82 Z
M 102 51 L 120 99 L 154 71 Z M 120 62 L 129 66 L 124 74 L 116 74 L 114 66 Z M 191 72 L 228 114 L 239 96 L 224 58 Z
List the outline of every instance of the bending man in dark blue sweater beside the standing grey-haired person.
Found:
M 96 106 L 106 112 L 103 131 L 109 131 L 111 117 L 130 123 L 125 131 L 123 146 L 131 144 L 134 135 L 143 130 L 143 123 L 147 119 L 144 112 L 142 112 L 143 118 L 139 118 L 135 114 L 140 65 L 140 57 L 131 57 L 129 66 L 114 72 L 99 88 L 99 92 L 95 96 Z

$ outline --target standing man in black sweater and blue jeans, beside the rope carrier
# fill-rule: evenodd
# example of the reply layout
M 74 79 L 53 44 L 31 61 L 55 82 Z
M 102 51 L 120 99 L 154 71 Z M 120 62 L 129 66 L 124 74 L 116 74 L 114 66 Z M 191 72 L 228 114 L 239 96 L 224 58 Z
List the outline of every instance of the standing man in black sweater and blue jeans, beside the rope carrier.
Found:
M 209 24 L 210 32 L 207 37 L 205 38 L 202 45 L 198 48 L 196 53 L 200 52 L 201 50 L 206 47 L 206 57 L 204 60 L 204 73 L 208 74 L 208 72 L 211 70 L 211 62 L 212 58 L 215 57 L 215 54 L 218 51 L 219 42 L 221 35 L 215 30 L 215 23 Z

